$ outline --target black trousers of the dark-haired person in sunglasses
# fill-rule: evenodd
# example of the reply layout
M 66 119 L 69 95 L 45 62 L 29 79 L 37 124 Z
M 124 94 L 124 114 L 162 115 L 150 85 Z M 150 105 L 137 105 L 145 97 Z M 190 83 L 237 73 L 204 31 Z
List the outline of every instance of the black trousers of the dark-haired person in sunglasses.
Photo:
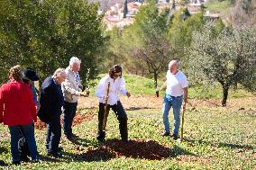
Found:
M 107 115 L 105 115 L 105 119 L 107 119 L 108 112 L 112 109 L 115 113 L 117 120 L 119 121 L 119 130 L 121 134 L 121 138 L 123 140 L 128 139 L 128 129 L 127 129 L 127 114 L 123 109 L 123 105 L 120 101 L 118 101 L 114 105 L 107 104 Z M 99 111 L 98 111 L 98 139 L 105 139 L 105 131 L 103 127 L 105 114 L 105 103 L 99 103 Z

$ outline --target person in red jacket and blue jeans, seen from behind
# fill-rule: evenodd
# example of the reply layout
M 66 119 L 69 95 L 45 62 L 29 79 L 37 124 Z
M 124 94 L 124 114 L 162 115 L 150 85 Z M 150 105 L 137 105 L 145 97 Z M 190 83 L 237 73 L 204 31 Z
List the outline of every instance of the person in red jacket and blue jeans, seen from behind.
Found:
M 20 130 L 28 142 L 32 162 L 38 162 L 37 147 L 34 138 L 33 121 L 37 121 L 36 107 L 29 85 L 22 82 L 20 66 L 11 67 L 10 81 L 0 87 L 0 123 L 8 126 L 11 134 L 11 153 L 13 164 L 20 165 L 18 150 Z

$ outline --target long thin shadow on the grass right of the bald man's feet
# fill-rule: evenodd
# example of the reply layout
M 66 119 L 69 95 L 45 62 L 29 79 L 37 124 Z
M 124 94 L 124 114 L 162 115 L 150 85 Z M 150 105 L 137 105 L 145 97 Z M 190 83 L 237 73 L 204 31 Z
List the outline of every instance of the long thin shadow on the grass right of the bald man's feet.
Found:
M 193 140 L 193 139 L 185 139 L 187 141 L 187 143 L 190 144 L 204 144 L 204 145 L 210 145 L 213 147 L 218 147 L 218 148 L 242 148 L 242 149 L 246 149 L 246 150 L 252 150 L 254 149 L 252 146 L 250 145 L 238 145 L 238 144 L 231 144 L 231 143 L 212 143 L 210 141 L 204 141 L 202 139 L 199 140 Z

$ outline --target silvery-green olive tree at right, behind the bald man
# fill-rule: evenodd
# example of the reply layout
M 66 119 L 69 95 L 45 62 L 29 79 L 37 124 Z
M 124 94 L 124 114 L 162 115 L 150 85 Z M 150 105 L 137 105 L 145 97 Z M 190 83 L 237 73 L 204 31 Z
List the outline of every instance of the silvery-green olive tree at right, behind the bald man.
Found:
M 187 50 L 188 68 L 194 80 L 207 78 L 222 85 L 222 105 L 225 106 L 232 85 L 240 83 L 255 91 L 256 30 L 224 28 L 216 32 L 213 25 L 194 32 Z

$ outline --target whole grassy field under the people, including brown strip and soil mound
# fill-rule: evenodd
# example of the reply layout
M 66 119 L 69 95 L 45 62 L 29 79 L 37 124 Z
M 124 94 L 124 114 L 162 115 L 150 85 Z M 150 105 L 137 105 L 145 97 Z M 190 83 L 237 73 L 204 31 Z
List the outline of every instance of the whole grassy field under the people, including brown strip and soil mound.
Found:
M 135 81 L 137 79 L 138 81 Z M 87 119 L 74 127 L 78 139 L 61 138 L 62 158 L 48 157 L 44 148 L 45 130 L 36 130 L 41 162 L 11 165 L 10 135 L 0 125 L 0 169 L 255 169 L 256 99 L 241 88 L 231 91 L 227 107 L 220 107 L 221 89 L 204 92 L 189 89 L 185 141 L 160 137 L 161 98 L 153 94 L 152 80 L 126 76 L 131 99 L 122 98 L 128 114 L 131 144 L 120 141 L 118 121 L 110 112 L 106 143 L 96 141 L 97 100 L 79 101 L 79 116 Z M 162 95 L 163 92 L 161 92 Z M 144 95 L 146 94 L 146 95 Z M 135 107 L 137 106 L 137 107 Z M 169 120 L 172 122 L 172 116 Z

